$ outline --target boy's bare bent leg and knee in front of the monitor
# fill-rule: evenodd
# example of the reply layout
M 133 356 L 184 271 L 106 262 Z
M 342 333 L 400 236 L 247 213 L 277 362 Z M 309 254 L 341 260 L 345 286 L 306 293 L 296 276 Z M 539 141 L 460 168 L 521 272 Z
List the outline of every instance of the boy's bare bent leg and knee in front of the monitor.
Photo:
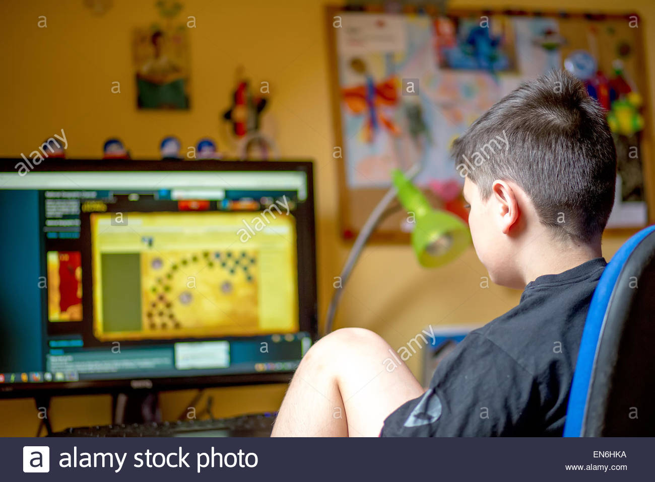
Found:
M 375 437 L 392 411 L 423 392 L 380 336 L 343 328 L 320 339 L 303 357 L 272 436 Z

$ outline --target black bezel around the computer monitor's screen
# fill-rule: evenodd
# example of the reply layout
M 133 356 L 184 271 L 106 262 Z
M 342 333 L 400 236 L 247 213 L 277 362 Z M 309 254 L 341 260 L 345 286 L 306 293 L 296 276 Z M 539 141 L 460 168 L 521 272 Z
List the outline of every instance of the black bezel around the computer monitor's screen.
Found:
M 0 173 L 15 172 L 22 158 L 0 158 Z M 102 172 L 102 171 L 302 171 L 307 176 L 307 256 L 299 269 L 298 283 L 304 283 L 305 297 L 299 307 L 305 307 L 309 318 L 312 342 L 318 339 L 318 301 L 316 287 L 316 223 L 314 210 L 314 169 L 310 160 L 94 160 L 47 158 L 33 171 L 39 172 Z M 28 173 L 29 175 L 29 173 Z M 300 260 L 299 260 L 300 262 Z M 299 294 L 300 296 L 300 294 Z M 194 377 L 142 377 L 117 380 L 1 383 L 0 398 L 29 398 L 77 394 L 117 394 L 185 390 L 191 388 L 229 387 L 288 383 L 293 371 L 271 371 L 232 375 L 202 375 Z

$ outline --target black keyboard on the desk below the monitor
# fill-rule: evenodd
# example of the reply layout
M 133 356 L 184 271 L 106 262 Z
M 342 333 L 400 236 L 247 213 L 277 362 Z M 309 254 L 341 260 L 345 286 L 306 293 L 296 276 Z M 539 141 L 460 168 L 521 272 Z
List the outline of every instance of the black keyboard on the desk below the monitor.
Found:
M 67 428 L 52 437 L 270 437 L 277 413 Z

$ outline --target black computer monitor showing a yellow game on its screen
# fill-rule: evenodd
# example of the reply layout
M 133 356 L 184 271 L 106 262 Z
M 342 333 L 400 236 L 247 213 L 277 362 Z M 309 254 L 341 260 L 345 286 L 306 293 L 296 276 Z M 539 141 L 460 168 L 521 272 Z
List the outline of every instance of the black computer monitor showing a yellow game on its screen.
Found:
M 288 381 L 311 162 L 0 160 L 0 396 Z

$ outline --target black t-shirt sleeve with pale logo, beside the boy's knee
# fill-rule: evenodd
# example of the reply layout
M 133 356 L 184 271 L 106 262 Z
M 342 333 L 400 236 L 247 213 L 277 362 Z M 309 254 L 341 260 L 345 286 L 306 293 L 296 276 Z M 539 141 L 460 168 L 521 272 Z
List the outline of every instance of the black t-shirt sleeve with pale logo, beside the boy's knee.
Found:
M 518 436 L 538 406 L 534 377 L 472 332 L 441 360 L 430 388 L 386 418 L 381 436 Z

